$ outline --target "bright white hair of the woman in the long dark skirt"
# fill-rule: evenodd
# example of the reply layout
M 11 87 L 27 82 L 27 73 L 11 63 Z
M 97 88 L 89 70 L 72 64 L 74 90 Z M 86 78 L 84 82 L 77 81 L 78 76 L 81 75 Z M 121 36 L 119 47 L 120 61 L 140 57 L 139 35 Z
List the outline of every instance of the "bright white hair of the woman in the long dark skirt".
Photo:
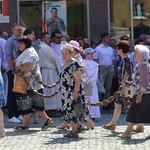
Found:
M 137 44 L 134 49 L 135 52 L 141 54 L 145 60 L 149 59 L 149 49 L 146 46 Z

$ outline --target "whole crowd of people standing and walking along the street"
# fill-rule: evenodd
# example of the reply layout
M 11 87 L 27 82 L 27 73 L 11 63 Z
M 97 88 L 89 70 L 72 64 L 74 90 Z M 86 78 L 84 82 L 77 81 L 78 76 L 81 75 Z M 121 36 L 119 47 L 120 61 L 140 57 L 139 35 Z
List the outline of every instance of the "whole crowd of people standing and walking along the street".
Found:
M 4 108 L 10 123 L 22 123 L 15 130 L 29 129 L 31 113 L 35 124 L 39 123 L 39 116 L 42 118 L 41 130 L 45 130 L 53 123 L 46 112 L 60 111 L 62 124 L 57 129 L 71 128 L 64 137 L 76 138 L 79 133 L 94 129 L 94 120 L 101 117 L 99 106 L 104 110 L 113 107 L 112 120 L 102 128 L 114 131 L 127 86 L 133 86 L 134 91 L 122 138 L 131 138 L 133 131 L 143 132 L 143 123 L 150 123 L 150 35 L 140 35 L 133 44 L 126 35 L 117 39 L 102 33 L 89 43 L 82 37 L 71 40 L 59 30 L 51 35 L 44 32 L 39 38 L 33 29 L 23 32 L 16 23 L 11 30 L 10 37 L 5 31 L 0 35 L 0 137 L 5 136 Z M 17 75 L 28 79 L 27 94 L 12 91 Z M 105 90 L 102 93 L 98 89 L 99 78 Z M 92 85 L 91 95 L 86 95 L 84 82 Z M 116 91 L 120 96 L 108 106 L 102 105 Z M 86 126 L 82 121 L 86 121 Z M 137 127 L 133 128 L 135 123 Z

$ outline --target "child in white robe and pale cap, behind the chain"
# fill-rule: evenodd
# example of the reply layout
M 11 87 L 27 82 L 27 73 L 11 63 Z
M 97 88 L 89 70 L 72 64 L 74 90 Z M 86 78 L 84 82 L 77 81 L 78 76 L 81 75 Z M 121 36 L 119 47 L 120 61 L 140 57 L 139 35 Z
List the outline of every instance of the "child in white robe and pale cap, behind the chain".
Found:
M 86 81 L 92 81 L 93 85 L 93 93 L 92 96 L 88 96 L 87 99 L 89 102 L 97 103 L 99 102 L 98 90 L 97 90 L 97 78 L 98 78 L 98 64 L 92 60 L 94 49 L 86 48 L 85 49 L 85 59 L 84 59 L 84 67 L 86 72 L 84 73 L 84 79 Z M 100 107 L 89 106 L 91 118 L 100 118 Z

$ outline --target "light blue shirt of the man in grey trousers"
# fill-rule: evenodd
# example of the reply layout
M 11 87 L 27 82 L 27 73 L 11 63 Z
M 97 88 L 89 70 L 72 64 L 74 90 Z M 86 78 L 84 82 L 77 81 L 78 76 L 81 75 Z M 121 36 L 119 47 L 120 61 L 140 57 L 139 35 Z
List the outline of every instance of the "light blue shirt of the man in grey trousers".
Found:
M 100 44 L 95 50 L 96 52 L 93 55 L 93 59 L 98 59 L 99 65 L 109 66 L 113 64 L 114 52 L 110 46 Z

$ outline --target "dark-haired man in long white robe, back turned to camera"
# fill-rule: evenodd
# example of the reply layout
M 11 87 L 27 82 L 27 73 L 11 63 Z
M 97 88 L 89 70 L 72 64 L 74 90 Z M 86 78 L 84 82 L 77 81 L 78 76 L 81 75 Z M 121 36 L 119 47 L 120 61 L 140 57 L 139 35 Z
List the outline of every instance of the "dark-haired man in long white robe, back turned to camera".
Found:
M 59 73 L 61 71 L 61 64 L 58 56 L 55 54 L 53 49 L 49 46 L 50 35 L 49 33 L 41 34 L 41 42 L 38 51 L 42 80 L 44 83 L 51 85 L 59 79 Z M 43 93 L 46 95 L 51 95 L 56 92 L 60 84 L 54 88 L 44 88 Z M 52 98 L 44 98 L 45 110 L 59 110 L 62 106 L 61 95 L 58 93 Z

